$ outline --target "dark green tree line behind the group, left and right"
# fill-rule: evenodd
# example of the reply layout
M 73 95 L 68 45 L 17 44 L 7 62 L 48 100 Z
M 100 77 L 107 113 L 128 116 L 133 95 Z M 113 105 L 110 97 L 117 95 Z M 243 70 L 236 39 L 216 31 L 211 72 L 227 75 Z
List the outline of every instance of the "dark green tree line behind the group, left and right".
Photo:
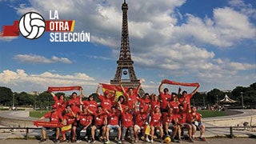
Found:
M 59 96 L 64 93 L 57 93 Z M 93 94 L 96 101 L 99 102 L 97 94 Z M 225 95 L 237 101 L 232 106 L 244 106 L 247 108 L 256 108 L 256 82 L 248 87 L 237 86 L 234 90 L 222 91 L 218 89 L 210 90 L 209 92 L 197 92 L 191 99 L 191 105 L 194 106 L 212 106 L 220 104 Z M 70 96 L 66 96 L 68 100 Z M 1 106 L 27 106 L 44 109 L 47 106 L 54 104 L 54 99 L 50 93 L 44 91 L 41 94 L 28 94 L 26 92 L 13 92 L 10 88 L 0 86 L 0 105 Z

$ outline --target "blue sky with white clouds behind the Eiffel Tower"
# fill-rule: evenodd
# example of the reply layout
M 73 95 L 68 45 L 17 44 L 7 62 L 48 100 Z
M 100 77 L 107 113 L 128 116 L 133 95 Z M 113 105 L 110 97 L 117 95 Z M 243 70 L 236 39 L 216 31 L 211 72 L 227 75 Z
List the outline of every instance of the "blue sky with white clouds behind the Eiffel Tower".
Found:
M 199 82 L 199 91 L 255 82 L 254 0 L 126 2 L 134 69 L 146 92 L 157 93 L 164 78 Z M 90 94 L 99 82 L 110 82 L 120 49 L 121 6 L 122 0 L 0 0 L 1 28 L 29 11 L 49 19 L 49 10 L 58 10 L 60 19 L 76 21 L 74 32 L 90 33 L 90 42 L 50 42 L 49 33 L 37 40 L 0 38 L 0 86 L 30 92 L 81 85 Z

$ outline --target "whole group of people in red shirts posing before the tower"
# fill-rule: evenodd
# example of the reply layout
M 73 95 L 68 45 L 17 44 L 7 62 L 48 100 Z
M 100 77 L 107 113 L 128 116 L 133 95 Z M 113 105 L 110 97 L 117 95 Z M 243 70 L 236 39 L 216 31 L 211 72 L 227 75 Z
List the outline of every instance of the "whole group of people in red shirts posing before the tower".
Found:
M 190 142 L 194 142 L 196 130 L 200 130 L 200 139 L 206 141 L 201 114 L 198 114 L 195 106 L 190 107 L 190 99 L 199 85 L 190 94 L 180 87 L 178 93 L 170 94 L 168 88 L 162 90 L 163 84 L 165 83 L 162 81 L 158 87 L 159 95 L 146 93 L 142 98 L 138 96 L 141 85 L 137 89 L 127 90 L 120 85 L 123 95 L 116 101 L 113 101 L 115 93 L 109 90 L 101 94 L 102 85 L 99 84 L 96 91 L 101 101 L 99 105 L 93 95 L 82 101 L 83 90 L 80 95 L 74 92 L 68 102 L 63 95 L 58 98 L 50 92 L 54 98 L 53 110 L 39 120 L 50 118 L 50 122 L 62 122 L 62 127 L 70 126 L 68 130 L 56 128 L 54 142 L 66 142 L 67 131 L 71 131 L 71 142 L 82 142 L 82 130 L 86 130 L 87 141 L 91 143 L 96 139 L 110 143 L 110 131 L 113 130 L 118 132 L 118 143 L 125 142 L 127 137 L 131 143 L 138 142 L 139 138 L 153 143 L 157 130 L 161 142 L 166 137 L 172 142 L 181 142 L 183 129 L 188 130 Z M 42 129 L 41 142 L 46 142 L 46 130 L 47 128 Z M 98 136 L 95 134 L 96 130 L 100 131 Z

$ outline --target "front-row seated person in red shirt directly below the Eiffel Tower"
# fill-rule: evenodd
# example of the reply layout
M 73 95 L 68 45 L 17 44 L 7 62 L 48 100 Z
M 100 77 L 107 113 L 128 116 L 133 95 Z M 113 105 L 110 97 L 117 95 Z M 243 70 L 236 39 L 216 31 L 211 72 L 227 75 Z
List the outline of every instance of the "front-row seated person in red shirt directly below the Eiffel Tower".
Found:
M 129 106 L 125 106 L 125 110 L 122 110 L 122 106 L 119 103 L 119 109 L 122 116 L 122 142 L 125 141 L 126 130 L 130 130 L 130 138 L 132 143 L 134 143 L 134 122 L 133 122 L 133 112 L 130 110 Z

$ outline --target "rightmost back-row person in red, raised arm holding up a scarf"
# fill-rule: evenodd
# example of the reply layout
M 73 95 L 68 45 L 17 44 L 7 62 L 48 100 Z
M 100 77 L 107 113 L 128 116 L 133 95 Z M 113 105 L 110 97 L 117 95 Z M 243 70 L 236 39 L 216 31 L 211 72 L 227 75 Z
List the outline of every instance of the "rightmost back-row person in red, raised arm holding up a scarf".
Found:
M 180 104 L 183 104 L 184 110 L 186 110 L 187 108 L 189 108 L 190 110 L 190 100 L 193 97 L 193 95 L 198 91 L 199 87 L 200 85 L 198 84 L 198 86 L 196 86 L 195 89 L 190 94 L 187 94 L 186 90 L 183 90 L 182 94 L 180 94 L 181 88 L 178 88 L 178 102 Z

